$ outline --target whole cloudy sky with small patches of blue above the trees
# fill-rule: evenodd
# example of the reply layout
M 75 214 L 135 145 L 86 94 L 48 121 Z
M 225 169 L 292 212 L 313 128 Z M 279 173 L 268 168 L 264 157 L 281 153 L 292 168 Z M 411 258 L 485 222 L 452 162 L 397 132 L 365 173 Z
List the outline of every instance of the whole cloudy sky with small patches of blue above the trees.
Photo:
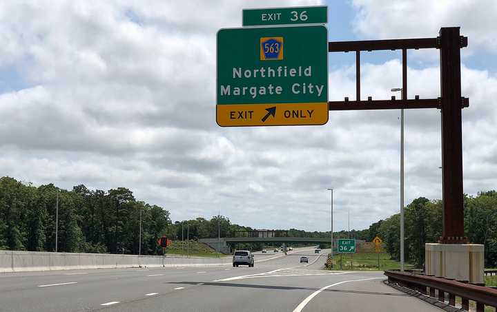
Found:
M 436 37 L 460 26 L 465 192 L 497 189 L 497 1 L 0 2 L 0 176 L 128 187 L 173 220 L 362 229 L 399 210 L 400 112 L 313 127 L 215 123 L 215 34 L 242 8 L 329 6 L 329 40 Z M 408 54 L 408 96 L 440 94 L 438 51 Z M 362 96 L 401 86 L 400 52 L 362 54 Z M 353 54 L 329 54 L 329 99 L 355 98 Z M 399 96 L 397 94 L 397 96 Z M 440 112 L 407 111 L 406 204 L 441 197 Z

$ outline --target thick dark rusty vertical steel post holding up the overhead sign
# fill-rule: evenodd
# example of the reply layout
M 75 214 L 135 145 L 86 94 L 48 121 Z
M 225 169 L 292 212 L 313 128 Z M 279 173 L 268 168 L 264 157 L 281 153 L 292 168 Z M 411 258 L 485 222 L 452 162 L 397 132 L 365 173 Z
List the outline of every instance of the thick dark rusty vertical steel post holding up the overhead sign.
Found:
M 440 29 L 442 96 L 442 243 L 464 243 L 462 101 L 458 27 Z

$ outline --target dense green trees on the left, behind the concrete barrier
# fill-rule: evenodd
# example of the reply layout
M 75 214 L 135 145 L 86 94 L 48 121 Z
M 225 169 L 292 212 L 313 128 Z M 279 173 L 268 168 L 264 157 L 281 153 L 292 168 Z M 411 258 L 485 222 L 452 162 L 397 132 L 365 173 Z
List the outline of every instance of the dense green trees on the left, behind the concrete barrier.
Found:
M 139 253 L 142 215 L 142 255 L 162 254 L 158 238 L 191 240 L 233 236 L 250 227 L 233 225 L 224 216 L 171 222 L 164 207 L 139 201 L 125 187 L 91 191 L 77 185 L 68 191 L 53 184 L 33 186 L 10 177 L 0 178 L 0 249 L 55 251 L 58 202 L 60 252 Z M 183 232 L 183 235 L 182 235 Z

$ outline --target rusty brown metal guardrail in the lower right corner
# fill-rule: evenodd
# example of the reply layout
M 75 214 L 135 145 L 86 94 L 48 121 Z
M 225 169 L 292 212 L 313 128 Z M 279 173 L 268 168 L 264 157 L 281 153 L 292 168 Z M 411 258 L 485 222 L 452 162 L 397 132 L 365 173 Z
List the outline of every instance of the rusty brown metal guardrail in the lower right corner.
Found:
M 460 297 L 462 309 L 467 311 L 469 311 L 469 300 L 476 302 L 476 312 L 484 312 L 485 306 L 494 307 L 497 311 L 497 289 L 393 270 L 385 271 L 384 275 L 387 275 L 389 283 L 397 283 L 432 298 L 437 298 L 438 295 L 440 302 L 445 302 L 445 293 L 447 293 L 451 306 L 456 306 L 456 297 Z

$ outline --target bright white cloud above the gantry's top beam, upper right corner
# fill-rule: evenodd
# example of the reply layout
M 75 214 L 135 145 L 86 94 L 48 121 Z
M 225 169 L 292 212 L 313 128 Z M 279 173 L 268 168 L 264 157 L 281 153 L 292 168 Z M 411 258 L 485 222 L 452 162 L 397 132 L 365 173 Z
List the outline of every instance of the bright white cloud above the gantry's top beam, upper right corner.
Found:
M 497 52 L 497 1 L 353 0 L 355 32 L 368 38 L 436 37 L 441 27 L 461 27 L 469 50 Z

